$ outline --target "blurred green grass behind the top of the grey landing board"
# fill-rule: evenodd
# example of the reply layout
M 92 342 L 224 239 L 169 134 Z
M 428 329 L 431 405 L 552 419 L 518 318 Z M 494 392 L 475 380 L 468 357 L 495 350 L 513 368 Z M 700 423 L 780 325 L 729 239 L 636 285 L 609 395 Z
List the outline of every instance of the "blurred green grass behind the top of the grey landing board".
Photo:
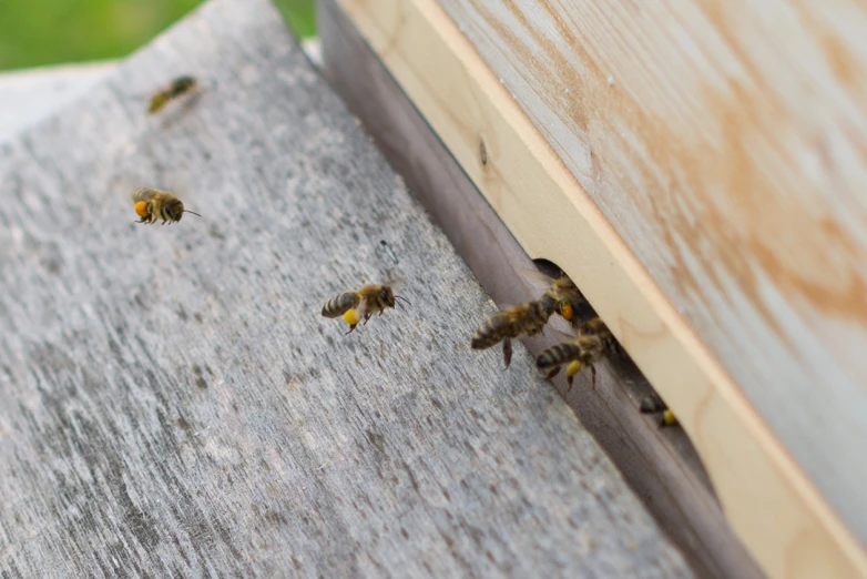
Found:
M 0 70 L 120 58 L 202 0 L 0 0 Z M 316 33 L 315 0 L 274 0 L 295 33 Z

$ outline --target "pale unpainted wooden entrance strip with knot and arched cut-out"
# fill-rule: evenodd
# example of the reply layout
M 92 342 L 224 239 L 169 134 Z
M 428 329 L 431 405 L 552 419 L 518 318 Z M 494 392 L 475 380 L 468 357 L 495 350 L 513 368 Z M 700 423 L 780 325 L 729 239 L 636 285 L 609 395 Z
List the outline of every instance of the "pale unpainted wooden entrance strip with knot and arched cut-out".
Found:
M 524 250 L 578 283 L 669 403 L 765 572 L 867 576 L 849 529 L 445 11 L 337 1 Z

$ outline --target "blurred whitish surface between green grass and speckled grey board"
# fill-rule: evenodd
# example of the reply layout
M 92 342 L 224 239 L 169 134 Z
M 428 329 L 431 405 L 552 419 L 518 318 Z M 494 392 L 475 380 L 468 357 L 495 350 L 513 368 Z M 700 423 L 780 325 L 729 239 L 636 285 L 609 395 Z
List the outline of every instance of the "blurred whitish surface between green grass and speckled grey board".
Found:
M 86 93 L 113 65 L 90 62 L 0 73 L 0 139 Z

